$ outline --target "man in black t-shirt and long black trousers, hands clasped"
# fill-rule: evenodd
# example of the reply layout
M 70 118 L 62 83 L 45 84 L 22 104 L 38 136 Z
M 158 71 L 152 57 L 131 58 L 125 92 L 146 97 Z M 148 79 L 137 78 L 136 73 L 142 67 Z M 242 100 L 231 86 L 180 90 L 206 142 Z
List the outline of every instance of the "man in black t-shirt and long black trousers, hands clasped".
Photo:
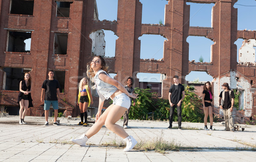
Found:
M 170 103 L 170 118 L 169 127 L 167 129 L 172 129 L 172 119 L 175 108 L 177 107 L 178 116 L 178 129 L 181 130 L 181 105 L 182 100 L 185 98 L 184 86 L 179 83 L 179 77 L 175 75 L 173 77 L 174 84 L 169 90 L 169 103 Z

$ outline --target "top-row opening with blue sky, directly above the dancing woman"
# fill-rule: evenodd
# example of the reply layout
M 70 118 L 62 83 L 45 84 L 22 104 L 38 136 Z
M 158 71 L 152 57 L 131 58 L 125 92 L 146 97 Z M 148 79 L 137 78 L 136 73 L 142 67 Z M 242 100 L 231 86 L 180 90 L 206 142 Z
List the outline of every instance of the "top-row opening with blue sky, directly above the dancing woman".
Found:
M 98 20 L 117 20 L 118 0 L 96 0 L 94 14 L 98 13 Z M 95 16 L 94 16 L 94 19 Z

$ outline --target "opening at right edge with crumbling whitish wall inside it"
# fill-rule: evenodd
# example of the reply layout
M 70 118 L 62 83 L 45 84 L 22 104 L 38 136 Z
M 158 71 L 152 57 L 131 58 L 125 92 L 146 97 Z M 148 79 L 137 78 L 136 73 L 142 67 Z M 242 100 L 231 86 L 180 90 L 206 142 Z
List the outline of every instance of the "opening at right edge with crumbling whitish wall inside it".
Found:
M 235 42 L 237 47 L 237 62 L 239 64 L 254 63 L 255 60 L 255 49 L 256 49 L 256 40 L 249 39 L 243 40 L 238 39 Z

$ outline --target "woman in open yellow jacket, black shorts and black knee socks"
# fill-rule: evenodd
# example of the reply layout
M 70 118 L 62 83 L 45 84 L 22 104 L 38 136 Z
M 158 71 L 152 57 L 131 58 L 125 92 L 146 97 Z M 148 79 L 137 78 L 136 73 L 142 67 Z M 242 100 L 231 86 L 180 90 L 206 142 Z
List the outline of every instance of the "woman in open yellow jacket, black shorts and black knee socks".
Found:
M 81 122 L 78 125 L 87 127 L 87 108 L 93 104 L 93 96 L 88 86 L 87 78 L 82 78 L 79 83 L 79 94 L 77 99 L 77 106 L 80 108 Z

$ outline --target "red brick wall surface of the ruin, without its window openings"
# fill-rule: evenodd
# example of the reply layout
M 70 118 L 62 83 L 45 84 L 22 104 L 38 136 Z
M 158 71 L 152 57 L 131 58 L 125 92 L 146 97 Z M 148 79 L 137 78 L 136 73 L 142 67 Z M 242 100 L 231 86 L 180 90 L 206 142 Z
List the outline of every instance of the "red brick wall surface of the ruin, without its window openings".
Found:
M 215 3 L 212 10 L 212 27 L 189 26 L 190 6 L 186 2 Z M 179 75 L 185 83 L 185 76 L 192 70 L 206 71 L 213 78 L 218 78 L 230 69 L 237 70 L 256 87 L 255 66 L 238 65 L 236 62 L 236 45 L 238 38 L 255 39 L 255 31 L 237 30 L 237 9 L 233 7 L 236 0 L 169 0 L 165 7 L 165 24 L 142 24 L 142 4 L 139 0 L 118 0 L 117 21 L 94 21 L 94 0 L 73 0 L 70 5 L 70 17 L 65 19 L 55 17 L 55 0 L 35 0 L 34 14 L 9 14 L 9 0 L 0 1 L 0 90 L 3 85 L 3 67 L 31 68 L 32 98 L 34 109 L 31 114 L 41 112 L 41 84 L 47 79 L 49 69 L 65 71 L 65 92 L 62 94 L 72 108 L 66 109 L 79 114 L 76 107 L 76 82 L 78 76 L 84 76 L 86 64 L 91 61 L 91 32 L 105 29 L 111 30 L 119 38 L 116 40 L 115 58 L 106 59 L 111 73 L 116 73 L 116 79 L 126 84 L 126 78 L 133 76 L 133 87 L 138 87 L 138 72 L 166 74 L 163 80 L 162 95 L 168 98 L 172 76 Z M 188 23 L 186 23 L 188 22 Z M 8 29 L 23 29 L 32 31 L 30 54 L 6 52 Z M 66 56 L 53 55 L 54 33 L 68 33 Z M 163 61 L 140 60 L 140 40 L 143 34 L 162 35 L 167 38 L 163 46 Z M 212 45 L 212 63 L 199 64 L 189 62 L 189 35 L 204 36 L 214 41 Z M 131 64 L 132 63 L 132 64 Z M 219 85 L 215 85 L 218 87 Z M 1 93 L 6 94 L 2 91 Z M 252 94 L 253 101 L 255 94 Z M 253 101 L 248 101 L 252 105 Z M 256 106 L 250 107 L 251 115 L 256 115 Z M 1 105 L 5 105 L 3 99 Z M 64 103 L 63 103 L 64 104 Z M 97 103 L 92 106 L 97 107 Z M 218 110 L 217 110 L 218 111 Z M 218 113 L 218 112 L 216 112 Z M 241 113 L 241 116 L 246 114 Z M 247 114 L 248 115 L 248 114 Z M 239 115 L 240 116 L 240 115 Z M 254 117 L 253 117 L 254 118 Z M 247 119 L 247 118 L 246 118 Z M 255 119 L 255 118 L 254 118 Z

